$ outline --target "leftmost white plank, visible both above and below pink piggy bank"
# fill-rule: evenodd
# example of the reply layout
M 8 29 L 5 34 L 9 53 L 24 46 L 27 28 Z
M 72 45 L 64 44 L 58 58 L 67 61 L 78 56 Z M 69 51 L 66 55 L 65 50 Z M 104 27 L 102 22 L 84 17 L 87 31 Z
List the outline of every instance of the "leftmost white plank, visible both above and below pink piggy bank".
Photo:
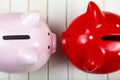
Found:
M 0 13 L 8 13 L 9 6 L 10 6 L 9 0 L 0 0 Z M 0 80 L 9 80 L 9 74 L 0 72 Z

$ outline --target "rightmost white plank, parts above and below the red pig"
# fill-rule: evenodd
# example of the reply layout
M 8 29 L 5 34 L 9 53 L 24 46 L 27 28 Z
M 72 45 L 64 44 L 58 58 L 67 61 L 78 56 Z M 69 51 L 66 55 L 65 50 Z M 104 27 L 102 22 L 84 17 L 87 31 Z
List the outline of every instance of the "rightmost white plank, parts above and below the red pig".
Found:
M 120 15 L 120 0 L 105 0 L 105 11 Z M 109 80 L 120 80 L 120 71 L 108 75 Z

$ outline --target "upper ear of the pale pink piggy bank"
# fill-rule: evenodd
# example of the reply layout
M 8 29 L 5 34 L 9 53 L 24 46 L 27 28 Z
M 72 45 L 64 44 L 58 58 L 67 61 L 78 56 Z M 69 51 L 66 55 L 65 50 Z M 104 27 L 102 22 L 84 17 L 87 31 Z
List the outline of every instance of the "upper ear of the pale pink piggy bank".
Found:
M 28 12 L 21 16 L 21 22 L 23 26 L 35 27 L 38 24 L 40 15 L 38 12 Z

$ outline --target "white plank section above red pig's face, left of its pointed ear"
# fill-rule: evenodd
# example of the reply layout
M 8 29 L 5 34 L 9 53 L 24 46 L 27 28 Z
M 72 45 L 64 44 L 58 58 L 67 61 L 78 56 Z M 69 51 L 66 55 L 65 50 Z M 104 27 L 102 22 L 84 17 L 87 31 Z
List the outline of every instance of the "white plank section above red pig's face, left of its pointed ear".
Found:
M 67 21 L 68 25 L 79 15 L 86 11 L 86 0 L 67 0 Z

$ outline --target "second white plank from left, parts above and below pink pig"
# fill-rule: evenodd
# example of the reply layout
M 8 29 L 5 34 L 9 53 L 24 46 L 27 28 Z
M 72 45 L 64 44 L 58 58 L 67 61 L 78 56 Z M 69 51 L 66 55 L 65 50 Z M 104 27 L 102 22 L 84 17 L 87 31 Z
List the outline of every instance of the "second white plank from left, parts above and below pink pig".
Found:
M 27 12 L 28 0 L 11 0 L 11 12 Z M 10 74 L 10 80 L 28 80 L 28 73 Z

